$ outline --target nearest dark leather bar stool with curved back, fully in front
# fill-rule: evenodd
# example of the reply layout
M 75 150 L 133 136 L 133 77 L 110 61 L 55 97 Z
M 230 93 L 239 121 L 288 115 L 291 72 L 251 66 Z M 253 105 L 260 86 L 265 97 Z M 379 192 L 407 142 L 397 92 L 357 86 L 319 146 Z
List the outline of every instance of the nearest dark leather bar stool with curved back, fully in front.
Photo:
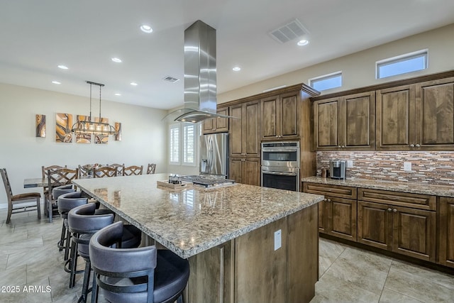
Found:
M 89 243 L 94 272 L 92 302 L 98 288 L 109 302 L 183 302 L 189 279 L 189 262 L 170 250 L 155 246 L 112 248 L 121 242 L 123 222 L 111 224 L 92 236 Z M 119 246 L 118 246 L 119 247 Z

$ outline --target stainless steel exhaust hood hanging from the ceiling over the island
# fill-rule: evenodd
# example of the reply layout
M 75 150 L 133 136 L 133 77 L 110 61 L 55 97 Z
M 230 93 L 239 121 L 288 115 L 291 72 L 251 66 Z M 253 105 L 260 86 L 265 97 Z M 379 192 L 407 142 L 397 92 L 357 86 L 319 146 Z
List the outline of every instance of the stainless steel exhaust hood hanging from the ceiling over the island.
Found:
M 184 108 L 167 116 L 196 123 L 216 117 L 216 30 L 198 20 L 184 31 Z

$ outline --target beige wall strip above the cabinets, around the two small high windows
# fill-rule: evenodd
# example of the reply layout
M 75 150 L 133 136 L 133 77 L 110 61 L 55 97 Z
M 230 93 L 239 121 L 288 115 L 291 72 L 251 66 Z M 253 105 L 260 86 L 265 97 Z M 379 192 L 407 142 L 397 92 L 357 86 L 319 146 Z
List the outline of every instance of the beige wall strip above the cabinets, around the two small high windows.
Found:
M 375 62 L 378 60 L 423 49 L 428 49 L 428 68 L 426 70 L 385 79 L 375 79 Z M 265 89 L 281 85 L 290 86 L 301 82 L 309 84 L 309 79 L 311 78 L 338 71 L 343 73 L 343 86 L 337 89 L 328 89 L 322 94 L 340 92 L 346 89 L 355 89 L 397 79 L 418 77 L 446 70 L 454 70 L 454 24 L 295 70 L 294 72 L 266 79 L 231 92 L 218 94 L 218 104 L 260 94 Z

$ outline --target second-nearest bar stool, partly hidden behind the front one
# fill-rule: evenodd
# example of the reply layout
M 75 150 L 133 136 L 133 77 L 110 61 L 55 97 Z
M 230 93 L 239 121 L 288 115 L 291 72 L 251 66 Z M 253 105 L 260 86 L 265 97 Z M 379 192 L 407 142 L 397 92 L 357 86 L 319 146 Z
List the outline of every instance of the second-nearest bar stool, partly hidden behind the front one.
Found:
M 82 295 L 78 302 L 87 302 L 90 280 L 89 241 L 96 231 L 114 222 L 114 214 L 96 214 L 96 205 L 88 203 L 71 209 L 68 213 L 68 227 L 72 232 L 70 288 L 74 287 L 77 267 L 77 255 L 85 260 L 84 283 Z M 140 245 L 142 233 L 132 225 L 123 226 L 121 245 L 125 248 L 135 248 Z M 131 260 L 129 261 L 131 262 Z

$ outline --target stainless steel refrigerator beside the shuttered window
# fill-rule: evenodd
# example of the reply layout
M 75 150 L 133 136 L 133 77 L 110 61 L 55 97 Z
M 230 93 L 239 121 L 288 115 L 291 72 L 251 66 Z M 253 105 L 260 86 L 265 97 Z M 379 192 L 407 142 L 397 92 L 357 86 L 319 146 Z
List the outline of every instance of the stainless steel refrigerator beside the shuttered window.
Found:
M 228 177 L 228 133 L 200 136 L 200 174 Z

